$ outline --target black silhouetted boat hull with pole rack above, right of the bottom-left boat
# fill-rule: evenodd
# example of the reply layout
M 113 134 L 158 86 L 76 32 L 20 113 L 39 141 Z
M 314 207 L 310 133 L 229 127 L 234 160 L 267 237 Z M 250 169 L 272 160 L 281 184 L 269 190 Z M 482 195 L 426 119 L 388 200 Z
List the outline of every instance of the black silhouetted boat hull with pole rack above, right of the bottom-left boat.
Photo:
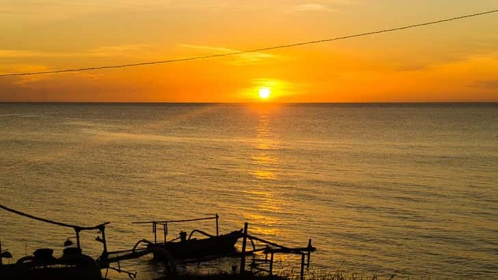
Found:
M 135 224 L 150 224 L 153 227 L 154 242 L 140 240 L 135 244 L 135 248 L 140 245 L 146 245 L 148 249 L 161 248 L 169 253 L 168 257 L 172 259 L 201 259 L 203 257 L 222 257 L 235 253 L 235 244 L 242 237 L 242 230 L 232 231 L 231 233 L 219 234 L 218 231 L 218 214 L 208 218 L 196 218 L 189 220 L 153 220 L 148 222 L 133 222 Z M 176 222 L 192 222 L 198 220 L 216 220 L 216 235 L 211 235 L 205 231 L 194 229 L 187 237 L 185 231 L 181 231 L 178 238 L 167 240 L 168 224 Z M 157 242 L 157 226 L 163 227 L 163 242 Z M 194 233 L 200 233 L 205 238 L 192 238 Z M 165 255 L 162 251 L 155 251 L 154 259 L 163 259 Z

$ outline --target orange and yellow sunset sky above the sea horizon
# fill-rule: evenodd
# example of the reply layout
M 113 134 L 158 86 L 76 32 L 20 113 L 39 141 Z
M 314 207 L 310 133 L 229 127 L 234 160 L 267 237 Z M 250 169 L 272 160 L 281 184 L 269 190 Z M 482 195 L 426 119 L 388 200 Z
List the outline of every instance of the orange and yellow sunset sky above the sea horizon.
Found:
M 333 38 L 496 0 L 3 0 L 0 73 L 166 60 Z M 155 66 L 0 77 L 0 101 L 498 101 L 498 13 Z M 264 93 L 265 90 L 263 90 Z

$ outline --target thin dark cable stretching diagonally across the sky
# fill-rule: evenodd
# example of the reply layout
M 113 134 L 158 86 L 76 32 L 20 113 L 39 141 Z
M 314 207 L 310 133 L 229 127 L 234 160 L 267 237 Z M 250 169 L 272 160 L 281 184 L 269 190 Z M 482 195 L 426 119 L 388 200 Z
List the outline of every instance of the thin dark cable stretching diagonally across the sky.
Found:
M 131 64 L 94 66 L 94 67 L 84 67 L 84 68 L 70 68 L 70 69 L 62 69 L 62 70 L 54 70 L 54 71 L 9 73 L 9 74 L 0 74 L 0 77 L 55 74 L 55 73 L 66 73 L 66 72 L 101 70 L 101 69 L 109 69 L 109 68 L 124 68 L 124 67 L 131 67 L 131 66 L 166 64 L 166 63 L 172 63 L 172 62 L 185 62 L 185 61 L 189 61 L 189 60 L 205 60 L 205 59 L 209 59 L 209 58 L 220 58 L 223 56 L 240 55 L 240 54 L 244 54 L 244 53 L 256 53 L 256 52 L 260 52 L 260 51 L 270 51 L 270 50 L 274 50 L 274 49 L 285 49 L 285 48 L 291 48 L 291 47 L 299 47 L 299 46 L 304 46 L 306 44 L 319 44 L 319 43 L 323 43 L 323 42 L 332 42 L 332 41 L 344 40 L 344 39 L 349 39 L 349 38 L 363 37 L 363 36 L 369 36 L 369 35 L 374 35 L 374 34 L 410 29 L 410 28 L 415 28 L 415 27 L 422 27 L 422 26 L 427 26 L 427 25 L 436 25 L 438 23 L 446 23 L 448 21 L 457 21 L 457 20 L 460 20 L 463 18 L 471 18 L 473 16 L 483 16 L 485 14 L 493 14 L 495 12 L 498 12 L 498 10 L 490 10 L 487 12 L 480 12 L 480 13 L 476 13 L 476 14 L 466 14 L 464 16 L 456 16 L 454 18 L 445 18 L 445 19 L 441 19 L 438 21 L 430 21 L 427 23 L 417 23 L 417 24 L 412 24 L 412 25 L 405 25 L 402 27 L 395 27 L 395 28 L 391 28 L 391 29 L 381 29 L 378 31 L 371 31 L 371 32 L 353 34 L 353 35 L 348 35 L 348 36 L 341 36 L 341 37 L 336 37 L 336 38 L 298 42 L 298 43 L 294 43 L 294 44 L 280 44 L 280 45 L 276 45 L 276 46 L 272 46 L 272 47 L 264 47 L 261 49 L 250 49 L 250 50 L 246 50 L 246 51 L 233 51 L 231 53 L 220 53 L 220 54 L 215 54 L 215 55 L 200 55 L 200 56 L 193 56 L 190 58 L 176 58 L 176 59 L 172 59 L 172 60 L 158 60 L 158 61 L 152 61 L 152 62 L 138 62 L 138 63 L 131 63 Z

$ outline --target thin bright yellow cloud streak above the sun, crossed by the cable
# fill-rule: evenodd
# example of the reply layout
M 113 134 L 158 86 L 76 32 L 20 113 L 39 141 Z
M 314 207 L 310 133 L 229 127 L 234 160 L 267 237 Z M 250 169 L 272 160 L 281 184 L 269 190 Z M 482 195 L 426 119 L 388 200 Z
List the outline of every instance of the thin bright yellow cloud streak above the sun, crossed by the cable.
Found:
M 203 46 L 198 44 L 180 44 L 180 47 L 185 47 L 189 49 L 196 49 L 199 51 L 203 51 L 211 54 L 224 54 L 224 53 L 236 53 L 239 50 L 237 49 L 228 49 L 223 47 L 213 47 L 213 46 Z M 237 55 L 232 55 L 235 60 L 231 61 L 231 64 L 254 64 L 258 62 L 263 62 L 265 60 L 278 58 L 278 55 L 274 55 L 272 53 L 240 53 Z

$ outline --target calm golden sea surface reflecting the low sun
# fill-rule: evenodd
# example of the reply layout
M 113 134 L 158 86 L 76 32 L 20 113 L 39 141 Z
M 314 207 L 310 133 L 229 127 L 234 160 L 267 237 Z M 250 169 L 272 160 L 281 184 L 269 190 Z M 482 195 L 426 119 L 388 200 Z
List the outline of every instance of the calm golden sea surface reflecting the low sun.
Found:
M 132 221 L 218 213 L 222 233 L 247 221 L 276 242 L 313 238 L 313 268 L 498 279 L 498 104 L 0 104 L 0 204 L 111 221 L 111 250 L 153 239 Z M 74 235 L 0 220 L 15 259 L 40 246 L 60 255 Z M 170 225 L 168 237 L 193 228 L 215 227 Z M 94 256 L 95 236 L 82 240 Z M 122 265 L 138 279 L 162 270 Z

